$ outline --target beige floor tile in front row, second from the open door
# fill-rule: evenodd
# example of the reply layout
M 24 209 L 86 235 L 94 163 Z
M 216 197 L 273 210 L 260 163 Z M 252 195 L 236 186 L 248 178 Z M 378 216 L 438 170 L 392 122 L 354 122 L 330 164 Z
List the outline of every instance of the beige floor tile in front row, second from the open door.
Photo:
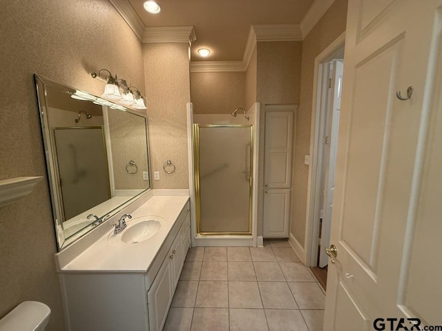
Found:
M 309 331 L 299 310 L 266 309 L 270 331 Z

